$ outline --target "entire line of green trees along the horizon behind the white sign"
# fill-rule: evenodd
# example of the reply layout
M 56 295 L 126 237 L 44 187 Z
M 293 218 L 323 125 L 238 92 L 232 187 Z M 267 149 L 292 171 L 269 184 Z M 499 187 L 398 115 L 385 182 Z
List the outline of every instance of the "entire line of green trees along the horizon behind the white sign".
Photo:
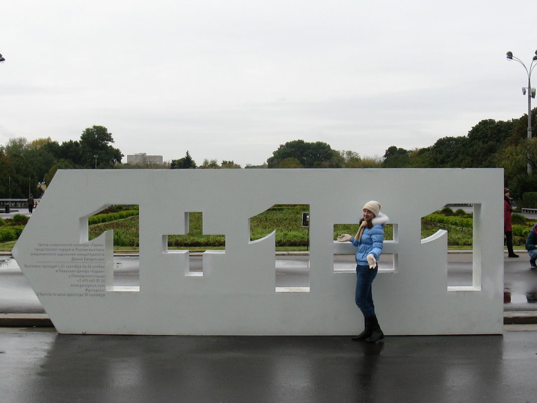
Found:
M 537 133 L 537 108 L 532 111 Z M 80 139 L 59 144 L 50 138 L 28 141 L 10 139 L 0 147 L 0 197 L 39 197 L 40 183 L 49 184 L 57 169 L 91 168 L 241 168 L 234 161 L 205 159 L 197 165 L 184 157 L 162 165 L 125 164 L 114 148 L 112 134 L 104 126 L 86 128 Z M 532 174 L 527 173 L 530 164 Z M 263 165 L 245 168 L 504 168 L 504 185 L 511 196 L 537 190 L 537 139 L 527 141 L 527 115 L 507 121 L 485 119 L 464 136 L 447 136 L 432 146 L 404 149 L 390 146 L 382 157 L 361 156 L 352 150 L 335 150 L 328 143 L 292 140 L 274 150 Z

